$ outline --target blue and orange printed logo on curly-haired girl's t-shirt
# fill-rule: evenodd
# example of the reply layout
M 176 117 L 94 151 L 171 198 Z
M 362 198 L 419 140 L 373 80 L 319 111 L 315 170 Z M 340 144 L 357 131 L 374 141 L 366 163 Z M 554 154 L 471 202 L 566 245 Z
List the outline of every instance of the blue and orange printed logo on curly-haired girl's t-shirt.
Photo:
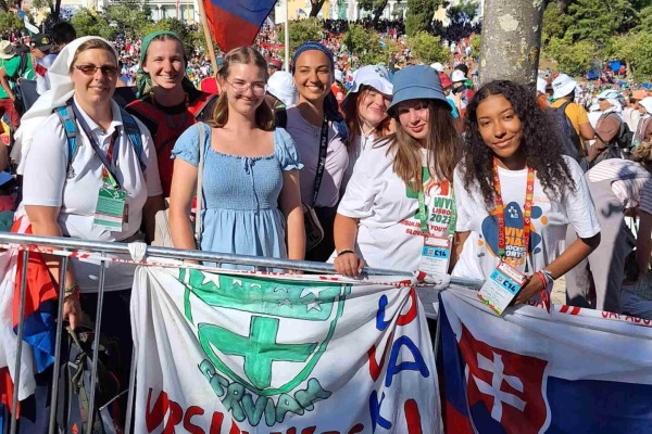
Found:
M 516 202 L 505 205 L 505 261 L 513 267 L 524 266 L 526 257 L 525 231 L 523 229 L 523 208 Z M 538 219 L 542 225 L 548 224 L 548 218 L 539 206 L 532 206 L 532 220 Z M 479 245 L 487 244 L 487 251 L 498 256 L 498 215 L 496 209 L 482 220 L 482 232 Z M 541 252 L 541 235 L 536 232 L 534 221 L 530 222 L 530 252 L 536 255 Z

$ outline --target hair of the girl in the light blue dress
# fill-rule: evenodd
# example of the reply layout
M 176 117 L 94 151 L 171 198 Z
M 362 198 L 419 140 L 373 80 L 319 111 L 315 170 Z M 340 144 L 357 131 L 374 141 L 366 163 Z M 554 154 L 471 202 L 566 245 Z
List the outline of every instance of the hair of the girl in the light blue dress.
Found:
M 265 82 L 267 82 L 267 62 L 263 55 L 251 47 L 235 48 L 224 56 L 224 63 L 218 72 L 218 77 L 226 80 L 230 74 L 230 67 L 235 63 L 244 65 L 254 65 L 263 72 Z M 228 99 L 226 92 L 222 90 L 213 110 L 213 116 L 206 122 L 211 127 L 222 128 L 228 120 Z M 265 101 L 261 101 L 261 105 L 255 110 L 255 124 L 259 128 L 265 131 L 273 131 L 275 128 L 274 112 Z

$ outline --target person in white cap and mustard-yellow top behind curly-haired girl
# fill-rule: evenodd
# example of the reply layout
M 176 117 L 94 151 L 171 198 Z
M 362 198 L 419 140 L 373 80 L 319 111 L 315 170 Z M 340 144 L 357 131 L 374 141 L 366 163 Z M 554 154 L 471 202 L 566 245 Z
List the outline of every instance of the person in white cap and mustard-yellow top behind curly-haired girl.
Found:
M 587 155 L 586 148 L 582 140 L 592 140 L 595 137 L 595 131 L 589 122 L 589 116 L 585 107 L 575 102 L 575 89 L 577 81 L 573 80 L 566 74 L 560 74 L 554 80 L 552 80 L 552 99 L 554 100 L 550 106 L 552 108 L 561 108 L 564 106 L 564 113 L 577 137 L 579 143 L 577 143 L 579 154 L 581 156 Z

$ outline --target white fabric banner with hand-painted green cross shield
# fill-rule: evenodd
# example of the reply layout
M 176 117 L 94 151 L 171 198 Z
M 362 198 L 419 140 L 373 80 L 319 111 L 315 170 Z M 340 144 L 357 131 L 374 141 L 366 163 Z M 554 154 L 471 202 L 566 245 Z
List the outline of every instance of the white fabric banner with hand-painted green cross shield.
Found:
M 139 267 L 135 432 L 441 432 L 423 307 L 383 280 Z

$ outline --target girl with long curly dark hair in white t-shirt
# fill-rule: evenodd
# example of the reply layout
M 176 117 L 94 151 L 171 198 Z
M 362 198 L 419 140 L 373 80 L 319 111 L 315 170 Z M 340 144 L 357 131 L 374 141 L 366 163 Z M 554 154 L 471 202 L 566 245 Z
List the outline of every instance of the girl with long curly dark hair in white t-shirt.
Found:
M 528 88 L 491 81 L 466 110 L 464 157 L 453 181 L 453 275 L 487 279 L 505 263 L 525 273 L 516 303 L 526 303 L 598 246 L 595 209 L 582 170 L 562 155 L 554 122 Z M 563 251 L 568 224 L 579 238 Z

